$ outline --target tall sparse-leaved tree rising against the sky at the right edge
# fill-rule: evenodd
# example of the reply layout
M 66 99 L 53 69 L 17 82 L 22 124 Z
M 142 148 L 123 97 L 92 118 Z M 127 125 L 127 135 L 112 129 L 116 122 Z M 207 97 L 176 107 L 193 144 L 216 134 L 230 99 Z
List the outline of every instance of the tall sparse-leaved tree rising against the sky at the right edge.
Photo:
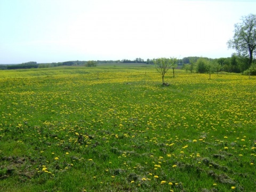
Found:
M 242 22 L 235 24 L 234 32 L 233 39 L 227 42 L 228 47 L 235 49 L 238 55 L 249 56 L 248 67 L 250 67 L 253 55 L 256 53 L 256 14 L 242 17 Z

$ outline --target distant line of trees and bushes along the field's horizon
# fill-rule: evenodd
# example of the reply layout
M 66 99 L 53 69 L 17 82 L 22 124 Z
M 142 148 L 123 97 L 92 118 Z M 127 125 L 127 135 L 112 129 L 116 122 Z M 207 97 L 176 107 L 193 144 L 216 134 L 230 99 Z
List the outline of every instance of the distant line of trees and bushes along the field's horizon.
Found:
M 228 58 L 202 58 L 202 57 L 185 57 L 182 59 L 177 59 L 178 68 L 185 69 L 191 73 L 208 73 L 209 72 L 209 62 L 214 63 L 214 68 L 219 71 L 226 71 L 228 73 L 243 73 L 256 75 L 255 65 L 249 66 L 248 57 L 243 57 L 242 55 L 237 55 L 233 53 L 231 57 Z M 31 68 L 50 68 L 58 66 L 86 66 L 95 67 L 100 63 L 145 63 L 153 64 L 155 59 L 147 59 L 146 61 L 141 58 L 136 58 L 134 60 L 123 59 L 123 60 L 97 60 L 97 61 L 64 61 L 64 62 L 52 62 L 52 63 L 37 63 L 35 61 L 25 62 L 17 65 L 0 65 L 0 69 L 31 69 Z M 252 63 L 256 63 L 253 59 Z M 180 67 L 179 67 L 180 66 Z M 181 67 L 182 66 L 182 67 Z

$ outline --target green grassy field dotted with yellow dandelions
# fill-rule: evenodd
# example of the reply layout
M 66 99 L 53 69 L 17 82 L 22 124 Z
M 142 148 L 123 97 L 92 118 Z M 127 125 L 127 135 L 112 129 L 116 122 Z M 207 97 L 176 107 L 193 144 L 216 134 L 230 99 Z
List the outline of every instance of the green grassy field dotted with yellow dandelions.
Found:
M 0 71 L 0 191 L 255 191 L 256 78 Z

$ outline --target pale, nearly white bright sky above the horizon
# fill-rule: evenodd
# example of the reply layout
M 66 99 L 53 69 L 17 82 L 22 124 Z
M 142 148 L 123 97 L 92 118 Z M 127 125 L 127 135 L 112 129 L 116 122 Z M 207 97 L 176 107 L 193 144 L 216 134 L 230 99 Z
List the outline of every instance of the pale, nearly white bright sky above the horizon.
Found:
M 230 57 L 256 1 L 0 0 L 0 63 Z

